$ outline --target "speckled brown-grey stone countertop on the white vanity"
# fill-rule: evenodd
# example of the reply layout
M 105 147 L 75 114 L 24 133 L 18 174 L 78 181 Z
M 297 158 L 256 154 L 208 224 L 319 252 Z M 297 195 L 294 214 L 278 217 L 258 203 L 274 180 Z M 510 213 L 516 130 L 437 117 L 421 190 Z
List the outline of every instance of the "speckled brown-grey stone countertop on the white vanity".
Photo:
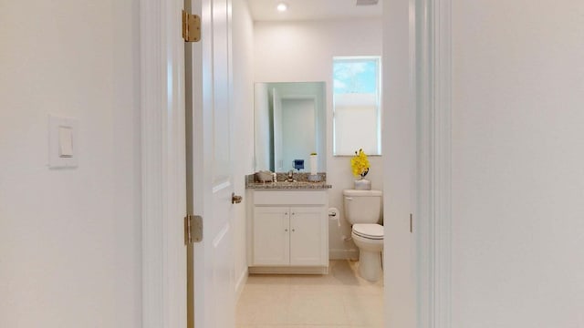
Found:
M 255 175 L 245 176 L 245 188 L 254 190 L 326 190 L 332 186 L 327 184 L 326 173 L 318 173 L 321 181 L 308 181 L 308 173 L 295 173 L 294 181 L 287 181 L 287 173 L 276 173 L 277 182 L 258 182 Z

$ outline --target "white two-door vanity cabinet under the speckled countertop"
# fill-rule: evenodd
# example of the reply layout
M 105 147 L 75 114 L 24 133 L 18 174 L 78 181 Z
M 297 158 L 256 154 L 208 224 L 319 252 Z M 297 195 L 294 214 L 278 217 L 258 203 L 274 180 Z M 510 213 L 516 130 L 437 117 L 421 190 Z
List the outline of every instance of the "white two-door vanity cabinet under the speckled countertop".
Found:
M 326 190 L 255 190 L 252 273 L 328 271 Z

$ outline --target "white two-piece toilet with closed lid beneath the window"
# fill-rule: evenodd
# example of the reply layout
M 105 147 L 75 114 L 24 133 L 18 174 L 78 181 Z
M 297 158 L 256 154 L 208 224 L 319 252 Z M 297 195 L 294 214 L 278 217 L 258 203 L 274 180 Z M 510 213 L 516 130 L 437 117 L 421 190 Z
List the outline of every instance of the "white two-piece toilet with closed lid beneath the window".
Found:
M 370 282 L 381 277 L 381 200 L 380 190 L 343 190 L 345 220 L 352 226 L 351 236 L 359 247 L 359 274 Z

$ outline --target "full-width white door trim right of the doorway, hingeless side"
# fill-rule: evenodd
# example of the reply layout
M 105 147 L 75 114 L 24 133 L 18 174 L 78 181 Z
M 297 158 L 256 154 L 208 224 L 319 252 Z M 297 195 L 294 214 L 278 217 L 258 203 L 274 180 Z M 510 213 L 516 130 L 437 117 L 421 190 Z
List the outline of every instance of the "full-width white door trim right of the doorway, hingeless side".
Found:
M 451 325 L 451 0 L 417 5 L 418 320 Z

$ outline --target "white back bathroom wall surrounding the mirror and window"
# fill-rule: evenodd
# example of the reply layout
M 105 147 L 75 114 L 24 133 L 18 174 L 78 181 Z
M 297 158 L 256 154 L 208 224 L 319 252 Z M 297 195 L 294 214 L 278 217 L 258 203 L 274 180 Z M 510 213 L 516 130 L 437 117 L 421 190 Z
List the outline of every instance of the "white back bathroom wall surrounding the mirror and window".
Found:
M 357 256 L 344 220 L 342 190 L 351 189 L 353 175 L 349 157 L 332 156 L 332 57 L 381 56 L 381 19 L 353 19 L 318 22 L 255 22 L 255 82 L 327 83 L 327 180 L 333 186 L 328 192 L 329 205 L 341 211 L 341 228 L 329 225 L 331 259 Z M 373 189 L 382 190 L 381 157 L 370 157 Z

